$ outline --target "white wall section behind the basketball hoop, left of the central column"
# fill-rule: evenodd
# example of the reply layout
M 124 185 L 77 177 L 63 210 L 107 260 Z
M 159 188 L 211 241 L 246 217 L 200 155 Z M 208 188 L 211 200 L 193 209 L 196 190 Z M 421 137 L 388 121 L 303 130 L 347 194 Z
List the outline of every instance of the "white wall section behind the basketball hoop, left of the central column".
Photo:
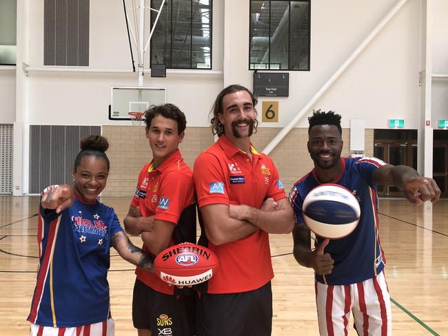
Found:
M 223 87 L 223 2 L 214 1 L 213 71 L 167 70 L 167 78 L 144 77 L 143 86 L 166 87 L 167 101 L 187 114 L 189 126 L 207 126 L 212 98 Z M 29 2 L 29 124 L 130 125 L 108 120 L 111 86 L 136 86 L 137 74 L 45 72 L 43 68 L 43 0 Z M 134 50 L 134 59 L 136 59 Z M 149 65 L 149 52 L 145 56 Z M 146 66 L 145 66 L 146 67 Z M 149 66 L 147 66 L 149 68 Z M 132 70 L 123 7 L 119 0 L 90 1 L 91 70 Z M 33 70 L 34 69 L 34 70 Z M 35 70 L 35 69 L 39 69 Z

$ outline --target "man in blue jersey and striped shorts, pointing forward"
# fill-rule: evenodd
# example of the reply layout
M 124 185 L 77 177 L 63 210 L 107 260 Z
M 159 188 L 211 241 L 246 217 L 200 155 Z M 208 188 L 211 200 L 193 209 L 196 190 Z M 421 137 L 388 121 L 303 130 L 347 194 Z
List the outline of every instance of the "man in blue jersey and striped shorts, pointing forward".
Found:
M 314 169 L 289 193 L 294 209 L 294 257 L 316 274 L 316 305 L 320 335 L 347 335 L 350 311 L 358 335 L 391 335 L 391 306 L 383 269 L 385 257 L 378 235 L 376 186 L 396 186 L 414 204 L 436 202 L 440 189 L 432 178 L 407 166 L 386 165 L 377 158 L 340 158 L 343 149 L 340 115 L 314 112 L 309 117 L 309 155 Z M 336 183 L 354 194 L 360 222 L 345 238 L 329 241 L 311 235 L 303 222 L 307 193 L 322 183 Z M 325 251 L 324 251 L 325 249 Z

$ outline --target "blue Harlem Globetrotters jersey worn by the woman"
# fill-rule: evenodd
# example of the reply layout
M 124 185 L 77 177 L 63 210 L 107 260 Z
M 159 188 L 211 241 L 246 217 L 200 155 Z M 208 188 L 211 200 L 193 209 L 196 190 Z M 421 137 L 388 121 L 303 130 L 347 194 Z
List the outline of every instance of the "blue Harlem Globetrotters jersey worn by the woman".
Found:
M 114 209 L 75 196 L 59 214 L 39 208 L 39 269 L 28 316 L 34 324 L 83 326 L 110 316 L 110 237 L 123 230 Z

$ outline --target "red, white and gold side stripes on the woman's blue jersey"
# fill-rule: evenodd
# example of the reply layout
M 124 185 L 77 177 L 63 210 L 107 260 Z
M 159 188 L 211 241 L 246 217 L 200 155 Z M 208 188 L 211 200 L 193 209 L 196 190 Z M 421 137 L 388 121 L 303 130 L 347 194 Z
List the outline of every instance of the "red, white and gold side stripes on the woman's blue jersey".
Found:
M 43 237 L 43 218 L 39 216 L 39 228 L 38 232 L 41 232 L 41 237 Z M 37 284 L 34 293 L 34 299 L 31 303 L 31 312 L 30 312 L 30 321 L 33 323 L 36 322 L 37 315 L 39 312 L 39 307 L 41 305 L 41 300 L 43 297 L 43 288 L 45 287 L 45 283 L 50 281 L 50 297 L 51 297 L 51 306 L 52 306 L 52 319 L 53 326 L 56 326 L 56 314 L 54 313 L 54 296 L 53 296 L 53 255 L 54 255 L 54 246 L 56 245 L 57 233 L 59 230 L 59 224 L 61 224 L 61 216 L 52 220 L 49 225 L 48 232 L 48 242 L 47 248 L 45 249 L 45 255 L 43 256 L 43 262 L 39 265 L 39 275 L 37 277 Z M 41 250 L 41 237 L 38 236 L 39 249 Z M 51 246 L 51 249 L 48 249 L 48 246 Z M 40 253 L 40 251 L 39 251 Z

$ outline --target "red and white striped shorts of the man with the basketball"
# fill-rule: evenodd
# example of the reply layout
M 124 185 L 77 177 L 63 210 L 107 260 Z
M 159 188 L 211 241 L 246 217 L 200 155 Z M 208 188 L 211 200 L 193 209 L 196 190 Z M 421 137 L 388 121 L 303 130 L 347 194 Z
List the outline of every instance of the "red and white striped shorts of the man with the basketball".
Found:
M 358 335 L 391 335 L 391 304 L 384 272 L 357 284 L 315 282 L 315 290 L 321 336 L 348 335 L 350 311 Z

